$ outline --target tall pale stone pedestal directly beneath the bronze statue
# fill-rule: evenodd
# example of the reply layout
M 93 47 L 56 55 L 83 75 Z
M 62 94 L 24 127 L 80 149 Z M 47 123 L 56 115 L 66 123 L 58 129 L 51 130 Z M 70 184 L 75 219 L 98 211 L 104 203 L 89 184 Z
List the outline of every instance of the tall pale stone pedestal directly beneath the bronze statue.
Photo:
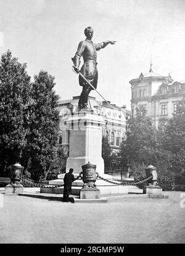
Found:
M 102 115 L 96 115 L 91 110 L 76 112 L 67 123 L 70 131 L 69 157 L 66 170 L 73 168 L 73 174 L 81 172 L 81 166 L 92 162 L 96 164 L 99 175 L 104 174 L 104 159 L 102 159 L 102 126 L 105 121 Z

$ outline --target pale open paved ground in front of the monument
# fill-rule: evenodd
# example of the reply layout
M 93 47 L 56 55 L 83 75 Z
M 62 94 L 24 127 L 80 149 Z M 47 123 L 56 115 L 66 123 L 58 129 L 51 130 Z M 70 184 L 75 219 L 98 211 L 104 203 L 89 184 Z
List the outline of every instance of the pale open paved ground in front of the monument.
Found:
M 184 243 L 180 194 L 185 192 L 165 193 L 169 199 L 84 204 L 6 195 L 0 208 L 0 242 Z

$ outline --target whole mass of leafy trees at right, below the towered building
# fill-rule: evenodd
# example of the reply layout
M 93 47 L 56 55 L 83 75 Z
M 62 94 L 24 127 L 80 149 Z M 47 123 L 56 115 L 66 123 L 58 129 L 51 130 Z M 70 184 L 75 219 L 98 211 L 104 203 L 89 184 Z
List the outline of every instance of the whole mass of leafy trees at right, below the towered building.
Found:
M 145 168 L 157 167 L 160 182 L 185 184 L 185 100 L 179 101 L 175 115 L 163 120 L 155 130 L 146 110 L 136 110 L 128 120 L 126 141 L 121 143 L 122 166 L 130 164 L 135 179 L 146 177 Z

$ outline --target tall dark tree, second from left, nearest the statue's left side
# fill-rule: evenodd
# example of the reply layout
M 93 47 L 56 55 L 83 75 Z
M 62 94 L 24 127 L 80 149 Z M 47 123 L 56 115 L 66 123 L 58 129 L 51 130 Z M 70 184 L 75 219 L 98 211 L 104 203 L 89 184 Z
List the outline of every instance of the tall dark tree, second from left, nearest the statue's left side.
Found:
M 31 87 L 33 104 L 24 165 L 31 172 L 31 177 L 39 180 L 46 179 L 56 156 L 55 146 L 59 133 L 59 112 L 56 107 L 59 95 L 53 89 L 54 77 L 46 71 L 40 71 L 34 80 Z

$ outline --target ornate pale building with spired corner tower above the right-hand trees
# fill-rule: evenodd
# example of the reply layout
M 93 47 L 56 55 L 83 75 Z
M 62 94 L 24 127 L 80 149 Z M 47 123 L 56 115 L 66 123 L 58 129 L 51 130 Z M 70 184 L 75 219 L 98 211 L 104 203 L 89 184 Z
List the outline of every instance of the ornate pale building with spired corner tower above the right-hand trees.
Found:
M 152 64 L 147 74 L 130 81 L 131 111 L 136 115 L 136 108 L 144 106 L 147 116 L 152 118 L 155 128 L 161 118 L 171 118 L 176 111 L 176 104 L 185 97 L 185 81 L 173 81 L 170 74 L 162 76 L 152 71 Z

